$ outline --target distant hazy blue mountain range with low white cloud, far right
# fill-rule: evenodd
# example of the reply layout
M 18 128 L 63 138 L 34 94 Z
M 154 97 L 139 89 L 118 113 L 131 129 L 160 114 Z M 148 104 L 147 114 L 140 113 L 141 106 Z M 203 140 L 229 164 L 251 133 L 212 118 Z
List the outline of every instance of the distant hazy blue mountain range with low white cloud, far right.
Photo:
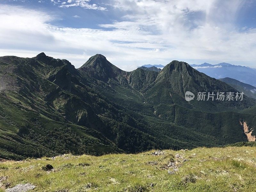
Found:
M 240 82 L 256 86 L 256 69 L 229 63 L 219 63 L 212 65 L 203 63 L 201 65 L 190 65 L 196 70 L 216 79 L 233 78 Z

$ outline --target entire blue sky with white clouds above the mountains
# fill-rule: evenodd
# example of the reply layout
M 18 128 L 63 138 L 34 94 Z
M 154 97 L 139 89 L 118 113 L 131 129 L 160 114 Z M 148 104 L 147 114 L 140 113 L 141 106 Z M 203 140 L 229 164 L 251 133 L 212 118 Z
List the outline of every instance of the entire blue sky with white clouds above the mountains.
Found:
M 0 0 L 0 56 L 256 68 L 256 0 Z

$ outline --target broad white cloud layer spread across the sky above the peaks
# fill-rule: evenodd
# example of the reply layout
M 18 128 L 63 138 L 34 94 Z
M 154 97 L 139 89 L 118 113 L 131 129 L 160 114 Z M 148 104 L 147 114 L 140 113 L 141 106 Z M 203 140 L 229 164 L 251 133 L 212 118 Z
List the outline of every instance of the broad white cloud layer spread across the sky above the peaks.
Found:
M 101 53 L 124 70 L 172 60 L 255 63 L 256 29 L 240 32 L 233 23 L 243 1 L 223 7 L 221 2 L 231 1 L 116 0 L 115 9 L 129 11 L 119 21 L 100 25 L 108 30 L 60 28 L 49 24 L 55 18 L 51 14 L 1 5 L 0 55 L 16 52 L 32 57 L 44 51 L 80 67 Z

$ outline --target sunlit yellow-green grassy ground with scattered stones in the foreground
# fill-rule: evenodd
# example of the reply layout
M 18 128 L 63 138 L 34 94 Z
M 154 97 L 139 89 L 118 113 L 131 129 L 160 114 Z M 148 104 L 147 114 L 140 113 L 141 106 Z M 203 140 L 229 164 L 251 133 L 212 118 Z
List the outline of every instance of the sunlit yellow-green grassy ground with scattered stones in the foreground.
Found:
M 153 152 L 7 161 L 0 177 L 3 186 L 31 183 L 33 191 L 256 191 L 256 147 Z M 42 170 L 46 164 L 54 169 Z

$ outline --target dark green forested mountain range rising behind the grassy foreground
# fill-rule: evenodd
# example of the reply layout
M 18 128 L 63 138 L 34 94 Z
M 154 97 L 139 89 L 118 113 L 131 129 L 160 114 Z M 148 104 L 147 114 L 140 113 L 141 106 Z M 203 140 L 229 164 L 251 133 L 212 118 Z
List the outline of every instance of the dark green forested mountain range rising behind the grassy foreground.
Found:
M 0 158 L 248 141 L 239 121 L 256 126 L 255 114 L 241 112 L 255 100 L 186 102 L 186 91 L 236 92 L 179 61 L 126 72 L 99 54 L 79 69 L 44 53 L 0 57 Z

